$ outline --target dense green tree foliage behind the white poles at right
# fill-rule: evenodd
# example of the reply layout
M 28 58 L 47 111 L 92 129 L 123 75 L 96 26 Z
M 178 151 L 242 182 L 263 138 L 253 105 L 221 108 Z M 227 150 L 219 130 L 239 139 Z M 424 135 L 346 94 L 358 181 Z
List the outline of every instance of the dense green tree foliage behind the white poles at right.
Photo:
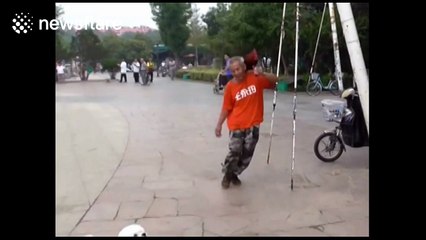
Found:
M 202 16 L 207 25 L 210 49 L 216 56 L 227 52 L 231 55 L 244 55 L 256 48 L 262 56 L 269 56 L 277 63 L 283 3 L 232 3 L 230 7 L 221 3 Z M 352 3 L 361 47 L 368 67 L 368 4 Z M 312 64 L 316 39 L 323 14 L 323 3 L 300 4 L 299 22 L 299 71 L 306 72 Z M 317 71 L 334 71 L 334 55 L 331 37 L 329 9 L 325 10 L 320 33 L 315 66 Z M 350 60 L 343 36 L 337 8 L 336 25 L 342 70 L 351 72 Z M 285 13 L 285 37 L 282 46 L 284 64 L 294 65 L 296 4 L 288 3 Z

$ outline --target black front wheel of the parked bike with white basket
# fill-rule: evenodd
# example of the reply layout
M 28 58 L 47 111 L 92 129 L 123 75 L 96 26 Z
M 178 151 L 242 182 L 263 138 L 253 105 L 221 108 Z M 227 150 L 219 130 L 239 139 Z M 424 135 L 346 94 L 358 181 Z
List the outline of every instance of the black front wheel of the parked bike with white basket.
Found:
M 343 142 L 334 132 L 323 133 L 315 140 L 314 152 L 321 161 L 334 162 L 343 153 Z

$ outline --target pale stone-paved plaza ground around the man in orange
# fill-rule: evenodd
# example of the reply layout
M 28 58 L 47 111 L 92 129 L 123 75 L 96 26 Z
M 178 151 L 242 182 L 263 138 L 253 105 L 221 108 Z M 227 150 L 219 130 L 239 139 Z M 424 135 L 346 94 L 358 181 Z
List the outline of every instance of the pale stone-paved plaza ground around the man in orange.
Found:
M 292 93 L 277 96 L 266 164 L 272 91 L 243 184 L 223 190 L 227 128 L 214 128 L 222 96 L 212 85 L 154 78 L 56 85 L 56 234 L 116 236 L 131 223 L 148 236 L 368 236 L 368 147 L 334 163 L 315 157 L 323 92 L 299 93 L 294 191 Z

